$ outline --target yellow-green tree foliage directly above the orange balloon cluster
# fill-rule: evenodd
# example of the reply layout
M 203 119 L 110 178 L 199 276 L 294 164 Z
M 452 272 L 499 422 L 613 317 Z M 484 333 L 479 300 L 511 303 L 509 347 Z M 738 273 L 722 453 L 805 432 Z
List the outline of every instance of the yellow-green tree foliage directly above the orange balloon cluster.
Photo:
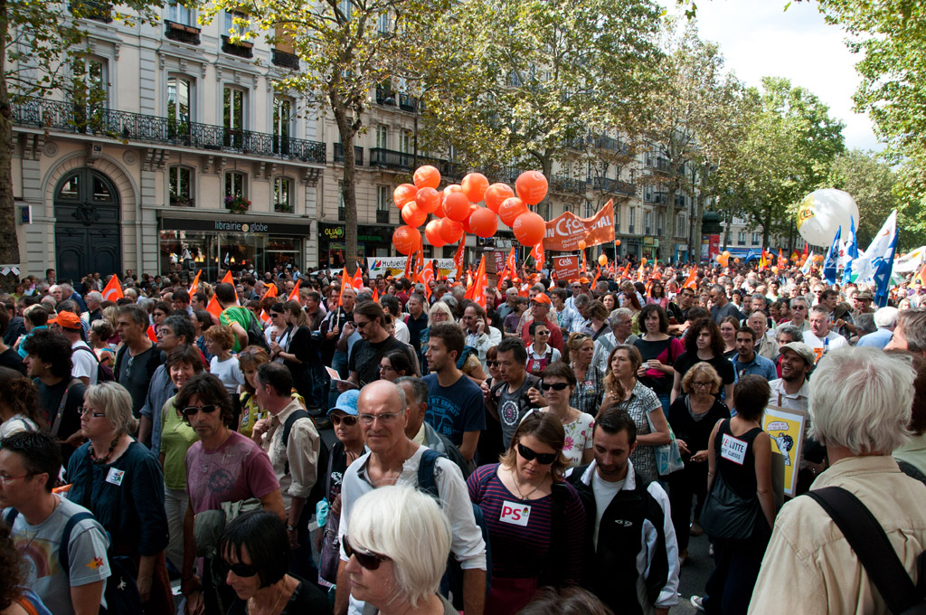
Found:
M 475 167 L 578 169 L 609 134 L 624 138 L 648 118 L 658 20 L 649 0 L 457 5 L 434 32 L 428 144 Z

